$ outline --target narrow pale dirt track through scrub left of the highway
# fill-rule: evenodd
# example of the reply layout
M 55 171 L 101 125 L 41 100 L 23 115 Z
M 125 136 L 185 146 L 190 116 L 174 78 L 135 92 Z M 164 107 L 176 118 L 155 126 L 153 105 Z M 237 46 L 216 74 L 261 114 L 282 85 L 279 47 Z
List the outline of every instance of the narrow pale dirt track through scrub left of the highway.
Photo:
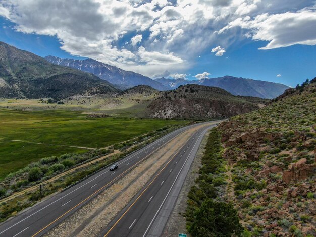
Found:
M 79 166 L 77 166 L 77 167 L 75 167 L 75 168 L 72 168 L 72 169 L 66 171 L 66 172 L 63 172 L 63 173 L 61 173 L 61 174 L 59 174 L 59 175 L 56 175 L 55 177 L 52 177 L 52 178 L 49 179 L 49 180 L 46 180 L 46 181 L 44 181 L 44 182 L 42 182 L 42 183 L 39 183 L 39 184 L 37 184 L 37 185 L 35 185 L 35 186 L 32 186 L 32 187 L 30 187 L 30 188 L 24 189 L 24 190 L 22 190 L 21 192 L 17 192 L 17 193 L 15 193 L 15 194 L 13 194 L 13 195 L 7 197 L 7 198 L 2 199 L 1 202 L 7 202 L 7 201 L 9 201 L 9 200 L 11 200 L 11 199 L 13 199 L 13 198 L 15 198 L 15 197 L 18 197 L 18 196 L 20 196 L 20 195 L 22 195 L 22 194 L 25 194 L 26 192 L 36 190 L 36 189 L 38 189 L 38 186 L 39 186 L 39 185 L 44 185 L 44 184 L 50 183 L 50 182 L 52 182 L 52 181 L 55 181 L 55 180 L 59 179 L 60 177 L 66 175 L 66 174 L 68 174 L 68 173 L 71 173 L 71 172 L 73 172 L 73 171 L 75 171 L 75 170 L 77 170 L 77 169 L 83 168 L 83 167 L 85 167 L 85 166 L 87 166 L 87 165 L 89 165 L 89 164 L 93 164 L 93 163 L 95 163 L 95 162 L 97 162 L 97 161 L 103 160 L 103 159 L 105 159 L 105 158 L 108 158 L 109 156 L 112 156 L 112 155 L 115 155 L 115 154 L 118 154 L 118 153 L 120 153 L 119 150 L 114 150 L 113 153 L 110 153 L 110 154 L 108 154 L 108 155 L 102 156 L 102 157 L 97 158 L 97 159 L 95 159 L 95 160 L 92 160 L 92 161 L 90 161 L 90 162 L 88 162 L 88 163 L 79 165 Z

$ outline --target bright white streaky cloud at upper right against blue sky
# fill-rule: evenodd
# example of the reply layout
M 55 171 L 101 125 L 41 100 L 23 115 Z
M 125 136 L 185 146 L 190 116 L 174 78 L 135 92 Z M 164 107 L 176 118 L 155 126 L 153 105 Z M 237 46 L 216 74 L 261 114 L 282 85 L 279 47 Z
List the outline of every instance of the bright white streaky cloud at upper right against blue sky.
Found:
M 234 27 L 248 29 L 253 40 L 269 42 L 260 49 L 274 49 L 294 44 L 316 45 L 315 25 L 316 9 L 304 8 L 297 12 L 237 18 L 218 32 L 221 34 Z

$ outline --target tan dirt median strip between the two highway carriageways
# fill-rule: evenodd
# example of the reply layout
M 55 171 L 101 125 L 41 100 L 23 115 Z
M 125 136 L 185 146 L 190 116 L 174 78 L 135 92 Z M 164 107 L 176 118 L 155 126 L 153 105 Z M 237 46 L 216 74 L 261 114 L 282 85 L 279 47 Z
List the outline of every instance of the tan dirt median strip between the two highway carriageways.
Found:
M 205 125 L 196 126 L 172 139 L 122 179 L 50 230 L 46 236 L 98 236 L 102 229 L 145 186 L 153 174 L 170 159 L 171 155 L 175 154 L 188 138 L 203 126 Z

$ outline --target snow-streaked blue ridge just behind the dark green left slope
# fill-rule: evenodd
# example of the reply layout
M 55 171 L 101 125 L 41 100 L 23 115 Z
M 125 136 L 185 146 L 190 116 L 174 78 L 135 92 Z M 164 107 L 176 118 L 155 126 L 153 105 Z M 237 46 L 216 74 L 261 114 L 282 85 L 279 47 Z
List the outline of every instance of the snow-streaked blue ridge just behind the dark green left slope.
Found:
M 148 85 L 157 90 L 168 90 L 168 87 L 165 87 L 160 82 L 152 80 L 149 77 L 143 76 L 139 73 L 125 71 L 118 67 L 98 62 L 91 58 L 86 60 L 62 59 L 55 56 L 46 56 L 44 58 L 52 64 L 92 73 L 103 80 L 106 80 L 114 85 L 118 85 L 120 89 L 124 89 L 124 87 Z

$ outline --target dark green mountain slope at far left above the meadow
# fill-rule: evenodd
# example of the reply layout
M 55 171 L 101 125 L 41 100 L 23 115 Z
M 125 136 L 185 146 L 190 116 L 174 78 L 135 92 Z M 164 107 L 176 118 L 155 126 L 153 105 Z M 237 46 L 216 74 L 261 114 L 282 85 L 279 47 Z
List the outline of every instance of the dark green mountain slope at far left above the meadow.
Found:
M 0 42 L 0 97 L 65 98 L 91 88 L 102 93 L 117 91 L 92 74 L 51 64 L 33 53 Z

